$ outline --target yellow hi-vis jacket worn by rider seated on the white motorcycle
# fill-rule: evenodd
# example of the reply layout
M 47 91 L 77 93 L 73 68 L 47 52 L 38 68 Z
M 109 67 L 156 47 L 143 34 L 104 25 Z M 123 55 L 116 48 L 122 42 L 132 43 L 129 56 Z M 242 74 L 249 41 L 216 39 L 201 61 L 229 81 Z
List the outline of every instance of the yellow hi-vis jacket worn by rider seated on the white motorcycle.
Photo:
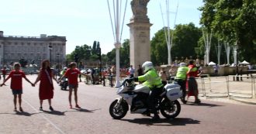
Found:
M 161 78 L 158 76 L 157 71 L 154 69 L 150 69 L 146 74 L 139 76 L 138 81 L 145 81 L 143 85 L 150 89 L 161 88 L 163 86 Z

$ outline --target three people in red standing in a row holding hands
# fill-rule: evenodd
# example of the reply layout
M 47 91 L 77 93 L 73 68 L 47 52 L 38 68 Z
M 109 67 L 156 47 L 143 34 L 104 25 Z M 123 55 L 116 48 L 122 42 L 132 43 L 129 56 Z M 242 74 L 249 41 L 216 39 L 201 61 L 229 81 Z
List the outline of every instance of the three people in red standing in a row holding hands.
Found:
M 78 105 L 78 75 L 81 74 L 80 70 L 77 69 L 77 64 L 71 62 L 70 68 L 64 73 L 64 75 L 59 79 L 56 80 L 54 77 L 53 70 L 50 69 L 50 61 L 43 60 L 40 68 L 40 73 L 38 77 L 36 77 L 36 81 L 33 83 L 29 81 L 26 77 L 25 73 L 20 70 L 21 65 L 19 63 L 14 64 L 14 70 L 12 70 L 9 76 L 3 81 L 1 87 L 5 85 L 5 82 L 11 78 L 11 85 L 10 88 L 12 89 L 12 94 L 14 96 L 14 112 L 17 112 L 17 98 L 19 99 L 19 111 L 23 112 L 22 109 L 22 78 L 28 81 L 33 87 L 35 87 L 36 83 L 40 81 L 39 86 L 39 98 L 40 98 L 40 111 L 43 111 L 43 100 L 48 100 L 49 102 L 49 109 L 50 111 L 54 111 L 54 108 L 51 105 L 51 99 L 54 98 L 54 84 L 53 80 L 59 83 L 63 77 L 68 77 L 68 85 L 69 85 L 69 107 L 72 107 L 71 103 L 71 95 L 74 91 L 74 101 L 75 101 L 75 108 L 81 108 Z M 85 75 L 85 74 L 81 74 Z

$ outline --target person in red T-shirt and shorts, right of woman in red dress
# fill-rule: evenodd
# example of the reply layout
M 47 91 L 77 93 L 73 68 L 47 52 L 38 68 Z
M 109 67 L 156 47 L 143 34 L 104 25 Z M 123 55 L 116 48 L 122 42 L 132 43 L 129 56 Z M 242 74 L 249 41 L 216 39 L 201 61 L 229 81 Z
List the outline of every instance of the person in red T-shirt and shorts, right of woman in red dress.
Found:
M 67 77 L 68 79 L 68 87 L 69 87 L 68 101 L 69 101 L 70 108 L 72 108 L 71 96 L 72 96 L 73 89 L 74 89 L 75 108 L 81 108 L 78 105 L 78 75 L 79 74 L 81 74 L 81 72 L 80 70 L 78 70 L 77 64 L 75 62 L 71 62 L 70 68 L 67 69 L 66 73 L 60 78 L 60 80 L 63 77 Z M 81 74 L 81 75 L 86 76 L 85 74 Z

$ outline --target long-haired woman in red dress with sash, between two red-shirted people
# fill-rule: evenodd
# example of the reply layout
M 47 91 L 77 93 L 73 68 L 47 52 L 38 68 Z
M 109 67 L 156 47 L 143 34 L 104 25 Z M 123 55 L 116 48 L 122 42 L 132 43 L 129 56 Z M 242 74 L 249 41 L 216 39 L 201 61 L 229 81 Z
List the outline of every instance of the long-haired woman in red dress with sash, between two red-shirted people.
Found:
M 43 111 L 43 100 L 48 99 L 50 111 L 54 111 L 51 106 L 51 99 L 54 98 L 54 84 L 53 78 L 56 81 L 53 72 L 50 70 L 50 61 L 43 60 L 41 64 L 40 74 L 36 78 L 34 84 L 40 81 L 39 98 L 40 98 L 40 111 Z

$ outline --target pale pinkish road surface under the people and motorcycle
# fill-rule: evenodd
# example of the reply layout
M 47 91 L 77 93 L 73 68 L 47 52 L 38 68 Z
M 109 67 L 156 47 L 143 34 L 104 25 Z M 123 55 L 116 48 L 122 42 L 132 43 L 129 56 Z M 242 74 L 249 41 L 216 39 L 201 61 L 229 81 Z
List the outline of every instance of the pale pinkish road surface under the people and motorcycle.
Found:
M 34 81 L 36 75 L 28 76 Z M 6 83 L 9 85 L 9 82 Z M 81 109 L 69 108 L 67 91 L 54 83 L 54 112 L 43 101 L 39 111 L 38 86 L 32 88 L 23 80 L 22 108 L 13 112 L 12 92 L 9 86 L 0 88 L 0 133 L 171 133 L 171 134 L 255 134 L 256 106 L 202 100 L 201 105 L 189 102 L 182 105 L 176 119 L 150 122 L 150 118 L 130 112 L 121 119 L 112 119 L 109 105 L 115 99 L 115 88 L 79 84 L 78 101 Z

